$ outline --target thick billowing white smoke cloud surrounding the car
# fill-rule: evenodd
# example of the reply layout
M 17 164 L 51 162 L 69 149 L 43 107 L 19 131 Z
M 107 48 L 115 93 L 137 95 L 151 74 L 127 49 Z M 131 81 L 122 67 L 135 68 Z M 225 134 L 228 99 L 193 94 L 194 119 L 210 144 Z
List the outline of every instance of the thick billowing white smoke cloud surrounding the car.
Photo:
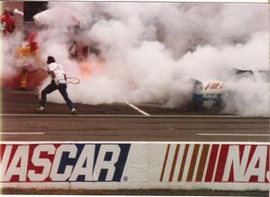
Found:
M 68 20 L 40 32 L 44 61 L 53 55 L 67 76 L 82 80 L 79 85 L 68 85 L 75 103 L 180 107 L 191 99 L 191 78 L 219 79 L 233 67 L 268 69 L 267 4 L 50 2 L 49 6 L 84 16 L 88 27 L 76 39 L 95 43 L 102 51 L 103 60 L 89 58 L 92 67 L 87 76 L 69 58 Z M 254 114 L 268 114 L 266 85 L 259 90 L 248 88 L 252 83 L 246 79 L 238 83 L 238 93 L 245 94 L 246 100 L 235 104 L 236 113 L 251 114 L 250 106 L 260 104 Z M 49 101 L 63 103 L 58 93 L 50 95 Z M 232 111 L 228 108 L 227 112 Z

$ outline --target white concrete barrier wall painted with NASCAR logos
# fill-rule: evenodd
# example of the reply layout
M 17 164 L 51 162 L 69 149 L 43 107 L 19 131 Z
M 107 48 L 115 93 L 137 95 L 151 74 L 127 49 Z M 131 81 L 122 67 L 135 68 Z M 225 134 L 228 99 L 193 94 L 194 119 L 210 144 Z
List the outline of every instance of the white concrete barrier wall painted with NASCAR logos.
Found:
M 269 190 L 270 144 L 3 142 L 0 146 L 2 187 Z

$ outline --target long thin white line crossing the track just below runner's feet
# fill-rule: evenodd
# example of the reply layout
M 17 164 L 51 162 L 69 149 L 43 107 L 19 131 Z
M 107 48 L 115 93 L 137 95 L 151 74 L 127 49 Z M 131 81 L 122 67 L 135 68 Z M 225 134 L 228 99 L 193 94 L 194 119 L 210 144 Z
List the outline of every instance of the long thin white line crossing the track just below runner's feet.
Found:
M 146 117 L 147 115 L 117 115 L 117 114 L 13 114 L 13 113 L 2 113 L 0 116 L 19 116 L 19 117 Z M 153 118 L 261 118 L 261 119 L 269 119 L 266 117 L 242 117 L 236 115 L 149 115 Z

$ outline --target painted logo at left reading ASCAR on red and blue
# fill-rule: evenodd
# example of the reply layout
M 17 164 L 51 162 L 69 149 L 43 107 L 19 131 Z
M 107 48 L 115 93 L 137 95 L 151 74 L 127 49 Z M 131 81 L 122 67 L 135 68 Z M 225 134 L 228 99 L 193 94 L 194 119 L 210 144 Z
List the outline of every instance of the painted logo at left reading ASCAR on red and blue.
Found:
M 120 182 L 130 144 L 0 145 L 4 182 Z

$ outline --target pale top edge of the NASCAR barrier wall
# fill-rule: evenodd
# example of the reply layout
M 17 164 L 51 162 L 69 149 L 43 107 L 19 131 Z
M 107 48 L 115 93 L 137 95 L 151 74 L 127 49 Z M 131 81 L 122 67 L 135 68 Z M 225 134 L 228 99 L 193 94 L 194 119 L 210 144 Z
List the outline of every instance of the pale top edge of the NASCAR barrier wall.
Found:
M 0 141 L 0 144 L 228 144 L 270 146 L 269 141 Z

